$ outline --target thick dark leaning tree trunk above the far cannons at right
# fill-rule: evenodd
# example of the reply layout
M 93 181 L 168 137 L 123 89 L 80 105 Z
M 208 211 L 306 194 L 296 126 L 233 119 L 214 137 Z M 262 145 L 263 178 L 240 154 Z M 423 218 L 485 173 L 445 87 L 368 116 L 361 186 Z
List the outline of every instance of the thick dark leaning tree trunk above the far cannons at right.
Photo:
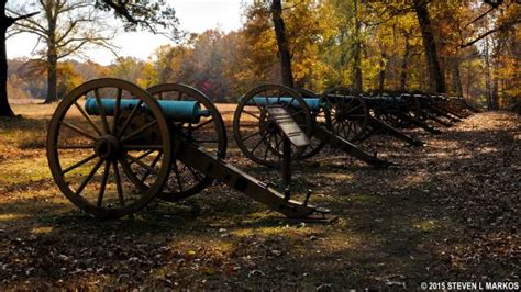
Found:
M 426 0 L 413 0 L 413 2 L 418 22 L 420 23 L 423 47 L 425 48 L 431 91 L 445 93 L 445 78 L 437 57 L 436 41 L 434 40 L 431 16 L 426 9 Z

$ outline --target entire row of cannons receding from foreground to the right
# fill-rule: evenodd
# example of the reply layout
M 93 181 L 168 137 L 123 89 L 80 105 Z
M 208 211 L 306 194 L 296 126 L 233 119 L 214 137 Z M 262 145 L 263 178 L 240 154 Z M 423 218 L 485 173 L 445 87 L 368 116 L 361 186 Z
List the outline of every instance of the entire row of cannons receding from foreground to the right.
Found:
M 240 99 L 233 136 L 247 158 L 268 167 L 281 166 L 287 157 L 310 158 L 326 145 L 387 167 L 389 161 L 356 143 L 388 134 L 419 146 L 423 143 L 402 128 L 439 133 L 433 124 L 450 126 L 473 110 L 463 99 L 442 96 L 364 94 L 346 88 L 315 94 L 265 85 Z M 177 83 L 144 90 L 113 78 L 69 92 L 47 132 L 47 160 L 58 188 L 98 217 L 133 214 L 154 198 L 177 202 L 215 180 L 288 217 L 328 216 L 329 210 L 309 203 L 310 194 L 292 200 L 288 191 L 228 162 L 226 147 L 222 115 L 202 92 Z

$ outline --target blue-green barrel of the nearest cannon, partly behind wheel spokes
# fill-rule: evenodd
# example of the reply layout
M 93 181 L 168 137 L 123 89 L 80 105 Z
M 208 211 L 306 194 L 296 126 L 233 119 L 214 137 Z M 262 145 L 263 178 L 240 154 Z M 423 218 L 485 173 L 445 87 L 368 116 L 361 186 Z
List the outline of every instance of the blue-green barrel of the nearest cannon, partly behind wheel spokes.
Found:
M 115 99 L 100 99 L 101 106 L 106 115 L 114 115 Z M 121 99 L 121 110 L 132 110 L 140 102 L 138 99 Z M 175 122 L 199 123 L 201 116 L 210 116 L 209 110 L 201 109 L 197 101 L 158 100 L 160 109 L 167 120 Z M 146 105 L 142 105 L 146 109 Z M 95 98 L 89 98 L 85 102 L 85 110 L 88 114 L 99 115 L 98 102 Z

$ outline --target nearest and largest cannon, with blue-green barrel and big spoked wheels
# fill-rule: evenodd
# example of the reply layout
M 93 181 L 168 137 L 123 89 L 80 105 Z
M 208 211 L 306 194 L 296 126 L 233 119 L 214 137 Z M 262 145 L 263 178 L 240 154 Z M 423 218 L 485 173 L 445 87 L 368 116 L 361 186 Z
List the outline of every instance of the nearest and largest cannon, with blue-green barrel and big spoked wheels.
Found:
M 292 200 L 224 160 L 222 117 L 182 85 L 147 90 L 120 79 L 88 81 L 59 103 L 47 133 L 47 160 L 65 196 L 97 217 L 131 215 L 154 198 L 175 202 L 218 180 L 293 218 L 328 210 Z

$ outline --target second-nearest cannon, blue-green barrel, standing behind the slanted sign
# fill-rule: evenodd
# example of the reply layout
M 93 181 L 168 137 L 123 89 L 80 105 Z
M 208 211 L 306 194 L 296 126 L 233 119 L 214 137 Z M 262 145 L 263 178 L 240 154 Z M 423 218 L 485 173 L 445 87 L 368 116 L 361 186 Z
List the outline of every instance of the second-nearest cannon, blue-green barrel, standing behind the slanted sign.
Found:
M 301 91 L 303 92 L 303 91 Z M 292 146 L 292 159 L 304 159 L 320 151 L 324 145 L 343 150 L 375 167 L 387 167 L 389 161 L 377 158 L 354 145 L 334 132 L 332 115 L 320 98 L 306 98 L 291 88 L 280 85 L 264 85 L 250 90 L 241 97 L 233 117 L 233 135 L 239 148 L 251 160 L 268 166 L 278 167 L 282 162 L 282 133 L 276 126 L 268 113 L 269 106 L 286 109 L 291 119 L 310 137 L 307 147 Z M 344 110 L 354 109 L 343 124 L 351 123 L 357 113 L 356 104 L 344 103 Z

